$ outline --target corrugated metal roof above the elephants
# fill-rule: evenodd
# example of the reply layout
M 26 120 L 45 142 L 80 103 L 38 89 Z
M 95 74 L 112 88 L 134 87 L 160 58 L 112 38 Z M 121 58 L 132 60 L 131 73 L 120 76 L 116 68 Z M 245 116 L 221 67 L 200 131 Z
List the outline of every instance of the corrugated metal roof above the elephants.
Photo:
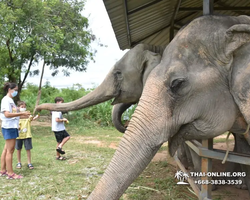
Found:
M 208 1 L 208 0 L 207 0 Z M 167 45 L 173 35 L 203 15 L 203 0 L 103 0 L 120 49 Z M 249 0 L 214 0 L 215 15 L 250 15 Z

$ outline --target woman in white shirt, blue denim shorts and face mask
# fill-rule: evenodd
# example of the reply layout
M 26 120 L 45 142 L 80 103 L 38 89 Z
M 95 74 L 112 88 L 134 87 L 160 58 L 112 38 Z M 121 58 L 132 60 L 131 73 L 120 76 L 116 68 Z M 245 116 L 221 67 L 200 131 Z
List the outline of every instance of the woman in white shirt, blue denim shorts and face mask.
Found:
M 3 87 L 7 93 L 1 101 L 2 133 L 5 139 L 5 146 L 1 155 L 0 176 L 7 176 L 8 179 L 21 179 L 23 176 L 14 173 L 12 168 L 13 153 L 15 150 L 16 138 L 18 137 L 19 117 L 29 117 L 30 112 L 18 112 L 13 101 L 17 95 L 17 84 L 5 83 Z

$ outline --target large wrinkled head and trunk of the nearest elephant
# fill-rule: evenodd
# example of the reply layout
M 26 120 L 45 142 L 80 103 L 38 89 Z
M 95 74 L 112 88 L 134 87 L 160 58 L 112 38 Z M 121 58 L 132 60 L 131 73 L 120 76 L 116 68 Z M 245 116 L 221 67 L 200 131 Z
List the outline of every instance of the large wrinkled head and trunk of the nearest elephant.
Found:
M 89 200 L 115 200 L 168 141 L 213 138 L 250 123 L 250 18 L 203 16 L 180 30 L 150 73 L 138 106 Z M 236 130 L 236 129 L 234 129 Z

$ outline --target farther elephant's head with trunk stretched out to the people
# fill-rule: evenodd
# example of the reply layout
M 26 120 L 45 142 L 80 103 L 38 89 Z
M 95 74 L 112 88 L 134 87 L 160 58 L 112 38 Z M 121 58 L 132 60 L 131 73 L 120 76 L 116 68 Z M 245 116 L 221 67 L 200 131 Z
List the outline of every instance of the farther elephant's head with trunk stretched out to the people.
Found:
M 151 70 L 160 62 L 162 53 L 162 47 L 139 44 L 114 65 L 101 85 L 91 93 L 69 103 L 42 104 L 36 110 L 79 110 L 112 98 L 113 105 L 138 102 L 143 85 Z

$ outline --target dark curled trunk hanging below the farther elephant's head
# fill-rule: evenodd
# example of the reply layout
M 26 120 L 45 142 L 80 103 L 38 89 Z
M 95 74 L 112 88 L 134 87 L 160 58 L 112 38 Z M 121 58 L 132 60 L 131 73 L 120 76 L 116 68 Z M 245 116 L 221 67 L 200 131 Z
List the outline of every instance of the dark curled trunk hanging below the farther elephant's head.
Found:
M 115 126 L 115 128 L 120 131 L 121 133 L 124 133 L 126 131 L 126 128 L 122 124 L 122 114 L 131 106 L 131 103 L 119 103 L 113 106 L 112 109 L 112 122 Z

